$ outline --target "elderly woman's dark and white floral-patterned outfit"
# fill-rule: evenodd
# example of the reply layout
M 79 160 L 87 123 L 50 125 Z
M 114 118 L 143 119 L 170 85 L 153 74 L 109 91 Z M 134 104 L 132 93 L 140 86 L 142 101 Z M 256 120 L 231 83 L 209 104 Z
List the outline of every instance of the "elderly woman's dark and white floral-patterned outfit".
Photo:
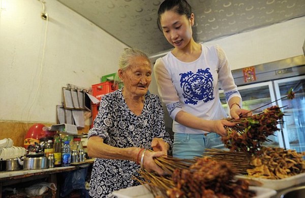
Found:
M 104 143 L 119 147 L 144 147 L 151 149 L 154 137 L 171 144 L 165 131 L 164 111 L 157 95 L 146 94 L 144 108 L 135 115 L 127 106 L 121 90 L 103 96 L 94 127 L 88 138 L 99 136 Z M 110 193 L 121 188 L 139 185 L 132 179 L 138 176 L 139 165 L 127 160 L 96 159 L 90 178 L 89 195 L 112 197 Z

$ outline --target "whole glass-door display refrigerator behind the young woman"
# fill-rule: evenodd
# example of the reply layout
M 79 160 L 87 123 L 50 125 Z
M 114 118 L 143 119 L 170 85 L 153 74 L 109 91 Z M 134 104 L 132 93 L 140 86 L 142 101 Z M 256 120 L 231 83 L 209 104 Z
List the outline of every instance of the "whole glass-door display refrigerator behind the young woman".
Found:
M 277 126 L 279 130 L 275 136 L 269 136 L 270 141 L 264 144 L 302 152 L 305 151 L 305 57 L 297 58 L 300 58 L 297 63 L 295 60 L 285 60 L 288 62 L 286 66 L 282 64 L 283 61 L 277 61 L 255 67 L 255 82 L 245 83 L 241 70 L 232 71 L 232 74 L 242 97 L 243 108 L 256 109 L 253 113 L 259 113 L 272 105 L 282 107 L 285 114 L 283 124 Z M 276 75 L 278 72 L 283 75 Z M 292 100 L 286 97 L 290 88 L 295 92 Z M 223 90 L 220 90 L 220 98 L 228 112 Z

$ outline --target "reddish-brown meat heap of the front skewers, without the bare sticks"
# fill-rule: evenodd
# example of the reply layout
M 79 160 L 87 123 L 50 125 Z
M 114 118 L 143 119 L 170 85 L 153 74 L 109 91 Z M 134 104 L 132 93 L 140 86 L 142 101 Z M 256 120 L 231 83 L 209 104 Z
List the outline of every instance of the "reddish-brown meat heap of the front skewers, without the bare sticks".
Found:
M 198 158 L 190 169 L 176 169 L 172 175 L 175 187 L 167 191 L 169 197 L 252 197 L 249 183 L 234 179 L 230 164 L 207 157 Z

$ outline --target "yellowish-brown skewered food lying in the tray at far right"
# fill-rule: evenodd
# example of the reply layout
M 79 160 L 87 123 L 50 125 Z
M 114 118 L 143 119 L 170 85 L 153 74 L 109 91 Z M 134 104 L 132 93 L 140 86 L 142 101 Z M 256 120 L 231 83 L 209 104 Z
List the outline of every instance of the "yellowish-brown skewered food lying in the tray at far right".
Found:
M 203 156 L 219 162 L 228 162 L 237 173 L 265 179 L 283 179 L 305 173 L 305 152 L 279 147 L 261 147 L 260 155 L 243 151 L 206 149 Z

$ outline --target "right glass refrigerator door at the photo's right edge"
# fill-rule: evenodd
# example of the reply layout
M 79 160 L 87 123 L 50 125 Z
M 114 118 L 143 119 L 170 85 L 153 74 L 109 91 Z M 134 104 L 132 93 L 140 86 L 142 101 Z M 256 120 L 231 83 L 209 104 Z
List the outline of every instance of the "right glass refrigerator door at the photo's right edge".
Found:
M 305 151 L 305 75 L 274 81 L 278 101 L 283 108 L 285 147 L 297 152 Z M 294 99 L 288 99 L 290 88 L 295 92 Z

